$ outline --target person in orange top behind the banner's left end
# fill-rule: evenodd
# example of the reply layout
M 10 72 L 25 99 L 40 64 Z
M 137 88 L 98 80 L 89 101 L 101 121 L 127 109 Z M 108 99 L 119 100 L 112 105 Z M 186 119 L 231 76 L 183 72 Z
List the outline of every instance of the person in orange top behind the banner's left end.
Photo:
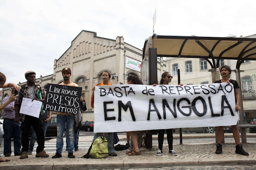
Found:
M 109 79 L 110 79 L 110 73 L 108 71 L 104 71 L 102 73 L 102 79 L 103 82 L 96 84 L 96 86 L 107 86 L 107 85 L 111 85 L 109 83 Z M 92 91 L 95 90 L 95 86 L 92 88 Z M 94 108 L 94 92 L 91 95 L 91 103 L 90 103 L 91 107 Z M 101 133 L 95 133 L 92 143 L 95 141 L 95 139 L 97 137 L 100 137 Z M 107 143 L 108 143 L 108 155 L 112 156 L 112 157 L 116 157 L 117 154 L 115 153 L 114 149 L 113 149 L 113 133 L 107 133 Z

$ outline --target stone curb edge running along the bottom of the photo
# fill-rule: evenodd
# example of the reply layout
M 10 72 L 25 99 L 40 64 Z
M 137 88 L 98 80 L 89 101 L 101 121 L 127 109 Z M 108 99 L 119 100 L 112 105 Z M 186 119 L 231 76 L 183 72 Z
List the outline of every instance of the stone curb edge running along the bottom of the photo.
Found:
M 5 170 L 102 170 L 102 169 L 139 169 L 139 168 L 163 168 L 177 166 L 252 166 L 256 160 L 184 160 L 170 162 L 123 162 L 123 163 L 75 163 L 75 164 L 36 164 L 36 165 L 1 165 Z

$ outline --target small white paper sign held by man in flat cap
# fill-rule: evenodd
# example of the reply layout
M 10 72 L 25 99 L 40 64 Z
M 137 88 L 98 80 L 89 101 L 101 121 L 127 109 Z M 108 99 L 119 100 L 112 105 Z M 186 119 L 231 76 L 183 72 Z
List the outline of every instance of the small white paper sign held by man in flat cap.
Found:
M 42 102 L 23 97 L 19 113 L 39 118 L 41 106 Z

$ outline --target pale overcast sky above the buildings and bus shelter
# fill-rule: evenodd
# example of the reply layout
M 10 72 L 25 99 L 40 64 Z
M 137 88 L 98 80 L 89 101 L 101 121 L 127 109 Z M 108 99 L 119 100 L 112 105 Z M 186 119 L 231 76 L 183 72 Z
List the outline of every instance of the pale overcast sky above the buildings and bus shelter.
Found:
M 255 0 L 0 0 L 0 72 L 6 82 L 53 73 L 53 61 L 81 30 L 142 49 L 152 35 L 256 33 Z

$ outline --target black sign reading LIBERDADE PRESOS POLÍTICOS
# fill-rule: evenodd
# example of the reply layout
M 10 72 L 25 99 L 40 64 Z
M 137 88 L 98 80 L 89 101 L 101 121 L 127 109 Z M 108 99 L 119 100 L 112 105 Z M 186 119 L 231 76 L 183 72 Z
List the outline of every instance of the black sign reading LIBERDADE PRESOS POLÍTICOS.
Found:
M 81 87 L 47 84 L 43 110 L 76 114 L 79 110 Z

